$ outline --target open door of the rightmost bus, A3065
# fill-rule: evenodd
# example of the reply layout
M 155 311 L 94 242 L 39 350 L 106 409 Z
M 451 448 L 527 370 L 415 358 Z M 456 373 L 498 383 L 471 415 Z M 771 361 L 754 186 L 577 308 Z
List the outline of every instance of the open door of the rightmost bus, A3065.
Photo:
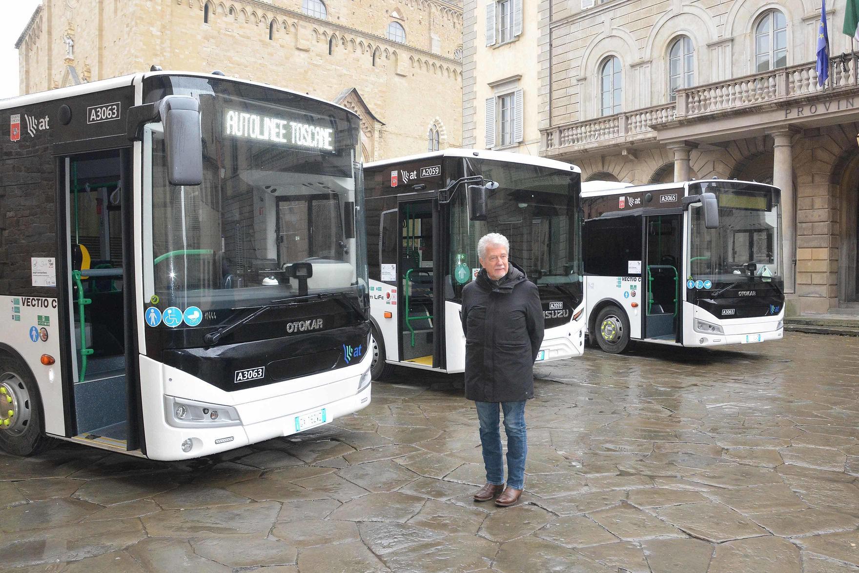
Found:
M 682 228 L 680 214 L 644 216 L 643 339 L 679 341 Z

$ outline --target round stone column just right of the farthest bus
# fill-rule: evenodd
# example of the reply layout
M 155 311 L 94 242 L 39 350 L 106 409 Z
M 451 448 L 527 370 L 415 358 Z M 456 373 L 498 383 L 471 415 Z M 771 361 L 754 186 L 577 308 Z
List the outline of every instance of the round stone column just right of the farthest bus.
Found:
M 784 268 L 784 291 L 796 292 L 796 193 L 794 190 L 794 156 L 791 138 L 797 133 L 794 129 L 778 130 L 771 133 L 772 184 L 782 190 L 782 254 Z

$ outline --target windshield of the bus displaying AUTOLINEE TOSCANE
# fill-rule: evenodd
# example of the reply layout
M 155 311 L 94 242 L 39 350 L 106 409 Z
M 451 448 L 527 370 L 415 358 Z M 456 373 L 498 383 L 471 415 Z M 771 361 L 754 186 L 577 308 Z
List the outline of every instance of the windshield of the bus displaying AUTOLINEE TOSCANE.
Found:
M 249 99 L 235 84 L 185 80 L 174 93 L 200 101 L 204 179 L 168 184 L 153 125 L 147 301 L 235 308 L 365 291 L 357 118 L 292 94 Z

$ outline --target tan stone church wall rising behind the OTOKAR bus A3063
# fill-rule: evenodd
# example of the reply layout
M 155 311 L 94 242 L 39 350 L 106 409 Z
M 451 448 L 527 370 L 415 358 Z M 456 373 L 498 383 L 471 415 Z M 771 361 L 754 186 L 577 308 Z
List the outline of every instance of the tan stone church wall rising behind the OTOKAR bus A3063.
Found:
M 460 0 L 42 0 L 16 43 L 21 93 L 162 69 L 335 100 L 363 159 L 461 143 Z

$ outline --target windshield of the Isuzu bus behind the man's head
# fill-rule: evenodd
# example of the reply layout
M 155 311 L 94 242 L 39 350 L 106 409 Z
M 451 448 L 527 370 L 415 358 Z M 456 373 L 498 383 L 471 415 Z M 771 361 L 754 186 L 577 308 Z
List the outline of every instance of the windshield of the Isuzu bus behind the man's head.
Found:
M 529 279 L 557 286 L 576 305 L 581 302 L 579 173 L 507 161 L 466 162 L 466 175 L 482 175 L 498 188 L 487 191 L 485 221 L 468 220 L 465 190 L 457 193 L 451 214 L 451 268 L 459 262 L 479 268 L 478 240 L 487 232 L 500 232 L 509 239 L 510 262 L 523 268 Z

